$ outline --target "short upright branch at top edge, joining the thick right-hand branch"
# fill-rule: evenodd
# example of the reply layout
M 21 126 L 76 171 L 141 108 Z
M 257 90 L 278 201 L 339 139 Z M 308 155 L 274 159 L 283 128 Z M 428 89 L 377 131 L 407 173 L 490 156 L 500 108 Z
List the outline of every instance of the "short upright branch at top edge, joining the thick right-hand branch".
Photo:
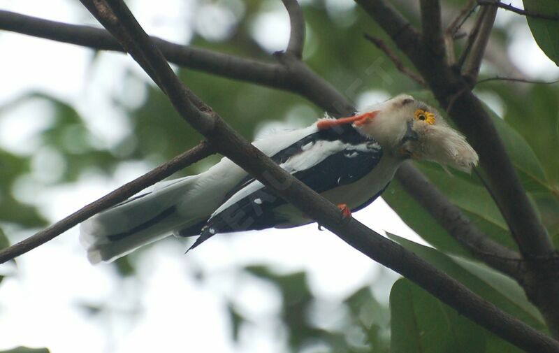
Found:
M 421 25 L 423 27 L 423 41 L 433 52 L 433 55 L 444 55 L 444 40 L 442 38 L 441 4 L 439 0 L 421 0 Z

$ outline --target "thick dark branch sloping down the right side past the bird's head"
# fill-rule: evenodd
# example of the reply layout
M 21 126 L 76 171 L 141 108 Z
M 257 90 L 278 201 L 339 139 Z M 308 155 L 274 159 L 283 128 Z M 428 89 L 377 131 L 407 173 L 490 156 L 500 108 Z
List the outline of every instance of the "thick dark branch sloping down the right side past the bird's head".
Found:
M 491 192 L 507 219 L 514 240 L 527 260 L 527 280 L 520 284 L 532 303 L 540 309 L 554 336 L 559 336 L 559 279 L 556 275 L 542 278 L 545 270 L 536 259 L 554 253 L 546 229 L 526 195 L 514 166 L 493 122 L 483 105 L 471 92 L 470 84 L 444 60 L 430 55 L 421 45 L 419 34 L 384 0 L 357 0 L 412 60 L 433 90 L 441 106 L 465 133 L 479 153 L 481 167 L 488 175 Z M 533 278 L 537 278 L 535 281 Z M 537 283 L 539 287 L 533 284 Z M 545 290 L 537 289 L 545 288 Z

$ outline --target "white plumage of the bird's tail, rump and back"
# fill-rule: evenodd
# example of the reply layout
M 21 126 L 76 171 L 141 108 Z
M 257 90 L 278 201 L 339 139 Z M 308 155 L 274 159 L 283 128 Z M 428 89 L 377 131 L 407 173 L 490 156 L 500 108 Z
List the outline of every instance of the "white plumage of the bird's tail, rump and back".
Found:
M 316 124 L 285 131 L 254 141 L 262 152 L 273 155 L 317 131 Z M 153 243 L 188 226 L 207 219 L 220 206 L 227 192 L 247 173 L 227 158 L 204 173 L 159 182 L 150 194 L 103 211 L 80 224 L 80 241 L 87 248 L 89 261 L 112 261 L 138 247 Z M 108 236 L 130 232 L 168 208 L 174 212 L 161 222 L 121 240 Z

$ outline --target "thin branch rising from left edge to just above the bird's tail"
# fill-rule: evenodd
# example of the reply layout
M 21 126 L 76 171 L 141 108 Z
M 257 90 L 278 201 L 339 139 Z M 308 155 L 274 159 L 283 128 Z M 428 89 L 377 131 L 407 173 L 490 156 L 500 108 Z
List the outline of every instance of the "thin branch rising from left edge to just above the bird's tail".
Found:
M 48 228 L 45 228 L 42 231 L 35 233 L 33 236 L 20 241 L 20 243 L 15 243 L 10 247 L 6 247 L 6 249 L 0 250 L 0 264 L 47 243 L 59 236 L 59 234 L 64 233 L 68 229 L 71 229 L 73 226 L 85 221 L 85 219 L 92 217 L 96 213 L 115 206 L 117 203 L 133 196 L 133 194 L 137 194 L 146 187 L 154 185 L 159 180 L 163 180 L 173 173 L 180 171 L 182 168 L 186 168 L 187 166 L 196 163 L 196 161 L 200 161 L 213 153 L 215 152 L 208 143 L 203 142 L 196 145 L 196 147 L 191 148 L 187 152 L 184 152 L 165 164 L 161 164 L 161 166 L 145 173 L 140 176 L 140 178 L 127 182 L 122 185 L 122 187 L 119 187 L 118 189 L 115 189 L 109 194 L 101 197 L 101 199 L 93 201 L 92 203 L 89 203 L 89 205 L 80 208 L 80 210 L 73 212 L 68 217 L 61 219 L 59 222 L 52 224 Z

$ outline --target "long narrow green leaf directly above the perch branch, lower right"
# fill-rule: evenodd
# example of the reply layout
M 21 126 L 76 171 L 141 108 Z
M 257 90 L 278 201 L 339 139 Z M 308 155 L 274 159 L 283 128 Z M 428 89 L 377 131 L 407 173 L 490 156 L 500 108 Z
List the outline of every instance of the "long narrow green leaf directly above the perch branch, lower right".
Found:
M 464 284 L 474 293 L 497 305 L 504 312 L 521 319 L 535 329 L 546 330 L 544 321 L 537 309 L 523 295 L 523 291 L 518 287 L 518 284 L 506 276 L 488 268 L 481 271 L 479 265 L 472 266 L 472 263 L 463 259 L 457 260 L 456 257 L 449 257 L 447 254 L 431 247 L 419 245 L 393 234 L 389 234 L 389 236 L 406 249 L 411 250 L 436 268 Z

